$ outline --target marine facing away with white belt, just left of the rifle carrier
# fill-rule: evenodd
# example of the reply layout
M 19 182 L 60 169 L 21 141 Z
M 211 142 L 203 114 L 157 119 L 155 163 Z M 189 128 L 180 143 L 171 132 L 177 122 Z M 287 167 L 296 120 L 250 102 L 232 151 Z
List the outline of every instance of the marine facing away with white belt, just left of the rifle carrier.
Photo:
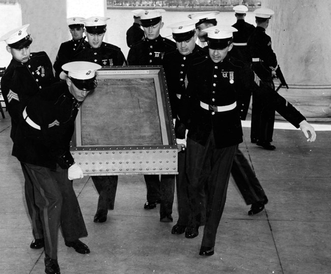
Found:
M 255 31 L 255 26 L 245 22 L 246 12 L 248 11 L 246 6 L 238 5 L 233 7 L 233 10 L 235 11 L 237 22 L 232 26 L 235 27 L 238 32 L 233 33 L 233 49 L 231 50 L 231 54 L 233 57 L 251 64 L 252 57 L 247 47 L 247 40 Z

